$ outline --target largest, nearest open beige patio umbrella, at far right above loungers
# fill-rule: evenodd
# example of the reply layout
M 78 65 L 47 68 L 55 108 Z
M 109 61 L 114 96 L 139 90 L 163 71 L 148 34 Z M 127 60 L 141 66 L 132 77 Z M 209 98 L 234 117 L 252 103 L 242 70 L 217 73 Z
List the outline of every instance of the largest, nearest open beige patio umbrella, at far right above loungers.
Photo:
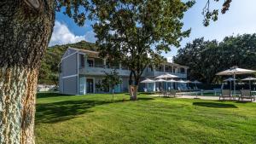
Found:
M 216 75 L 218 75 L 218 76 L 233 75 L 233 78 L 236 79 L 236 74 L 247 74 L 247 73 L 253 73 L 253 72 L 256 72 L 256 71 L 247 70 L 247 69 L 243 69 L 243 68 L 238 68 L 237 66 L 233 66 L 228 70 L 216 73 Z M 234 81 L 234 92 L 236 93 L 236 81 Z

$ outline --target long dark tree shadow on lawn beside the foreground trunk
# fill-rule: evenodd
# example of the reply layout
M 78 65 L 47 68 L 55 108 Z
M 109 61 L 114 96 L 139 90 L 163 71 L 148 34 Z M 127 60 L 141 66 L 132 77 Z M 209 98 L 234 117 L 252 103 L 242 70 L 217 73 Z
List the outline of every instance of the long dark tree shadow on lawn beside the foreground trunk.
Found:
M 137 101 L 150 101 L 152 98 L 138 98 Z M 117 100 L 117 101 L 59 101 L 53 103 L 37 104 L 36 112 L 36 124 L 40 123 L 58 123 L 61 121 L 69 120 L 78 117 L 86 112 L 93 112 L 91 107 L 100 105 L 125 102 L 129 100 Z

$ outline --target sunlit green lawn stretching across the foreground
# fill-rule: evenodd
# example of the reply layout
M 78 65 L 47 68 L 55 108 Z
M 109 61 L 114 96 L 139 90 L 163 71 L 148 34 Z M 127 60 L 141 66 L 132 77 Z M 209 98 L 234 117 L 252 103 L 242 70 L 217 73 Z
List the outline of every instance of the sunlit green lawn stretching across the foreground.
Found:
M 36 142 L 256 142 L 256 103 L 138 97 L 38 94 Z

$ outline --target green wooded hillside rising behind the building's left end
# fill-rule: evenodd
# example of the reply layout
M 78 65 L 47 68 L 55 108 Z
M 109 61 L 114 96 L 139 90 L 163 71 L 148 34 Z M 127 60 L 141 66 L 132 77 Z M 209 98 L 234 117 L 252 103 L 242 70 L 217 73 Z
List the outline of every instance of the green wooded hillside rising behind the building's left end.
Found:
M 68 47 L 96 50 L 95 43 L 89 43 L 85 41 L 81 41 L 79 43 L 55 45 L 47 48 L 39 70 L 38 84 L 58 83 L 58 65 L 61 61 L 62 55 L 65 53 Z

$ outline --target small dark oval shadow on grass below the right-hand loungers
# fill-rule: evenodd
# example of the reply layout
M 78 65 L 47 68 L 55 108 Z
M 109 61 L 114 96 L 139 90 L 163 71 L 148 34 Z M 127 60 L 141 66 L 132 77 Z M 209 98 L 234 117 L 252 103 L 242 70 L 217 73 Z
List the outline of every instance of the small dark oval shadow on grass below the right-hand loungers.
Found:
M 224 104 L 224 103 L 215 103 L 215 102 L 193 102 L 195 106 L 201 107 L 217 107 L 217 108 L 237 108 L 232 104 Z

